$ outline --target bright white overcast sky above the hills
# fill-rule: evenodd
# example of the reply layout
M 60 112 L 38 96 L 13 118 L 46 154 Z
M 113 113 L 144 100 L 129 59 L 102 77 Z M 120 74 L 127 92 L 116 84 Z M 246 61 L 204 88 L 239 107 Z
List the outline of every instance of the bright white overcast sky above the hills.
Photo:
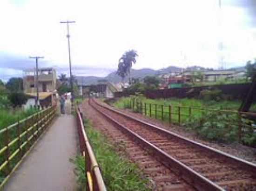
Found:
M 135 69 L 240 66 L 256 57 L 255 0 L 0 0 L 0 78 L 40 66 L 68 67 L 70 26 L 76 75 L 106 76 L 124 51 Z M 220 42 L 223 44 L 219 51 Z

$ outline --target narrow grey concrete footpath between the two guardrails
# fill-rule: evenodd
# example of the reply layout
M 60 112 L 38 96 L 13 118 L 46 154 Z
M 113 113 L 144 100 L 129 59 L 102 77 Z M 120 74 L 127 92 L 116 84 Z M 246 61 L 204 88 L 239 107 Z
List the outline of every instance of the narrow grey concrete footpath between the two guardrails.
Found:
M 7 182 L 4 191 L 75 191 L 76 121 L 57 117 Z

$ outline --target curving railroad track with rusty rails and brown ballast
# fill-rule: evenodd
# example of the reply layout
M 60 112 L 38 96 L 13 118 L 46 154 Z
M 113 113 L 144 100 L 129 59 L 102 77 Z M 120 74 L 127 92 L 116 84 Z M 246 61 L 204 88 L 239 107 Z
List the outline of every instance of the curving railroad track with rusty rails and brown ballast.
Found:
M 98 112 L 197 190 L 256 191 L 256 165 L 90 100 Z

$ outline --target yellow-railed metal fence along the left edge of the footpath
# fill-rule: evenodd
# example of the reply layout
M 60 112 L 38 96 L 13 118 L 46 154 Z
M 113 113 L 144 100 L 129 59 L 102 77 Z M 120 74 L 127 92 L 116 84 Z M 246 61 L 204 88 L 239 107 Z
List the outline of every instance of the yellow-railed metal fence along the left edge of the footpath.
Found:
M 52 106 L 0 130 L 0 190 L 53 120 Z

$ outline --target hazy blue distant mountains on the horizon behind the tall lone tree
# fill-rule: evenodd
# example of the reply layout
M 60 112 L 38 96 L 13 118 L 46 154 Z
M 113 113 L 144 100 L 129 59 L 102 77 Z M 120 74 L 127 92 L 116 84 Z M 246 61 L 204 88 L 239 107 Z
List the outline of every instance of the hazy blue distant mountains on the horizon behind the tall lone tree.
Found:
M 153 70 L 149 68 L 143 68 L 143 69 L 131 69 L 130 78 L 144 78 L 146 76 L 158 76 L 162 74 L 168 74 L 170 72 L 176 72 L 176 71 L 182 71 L 182 68 L 175 67 L 175 66 L 169 66 L 168 68 L 162 68 L 160 70 Z M 120 76 L 116 74 L 116 71 L 111 72 L 106 77 L 95 77 L 95 76 L 75 76 L 77 79 L 78 84 L 84 84 L 84 85 L 90 85 L 95 84 L 101 79 L 108 80 L 108 82 L 121 82 L 122 79 Z M 128 76 L 124 78 L 124 82 L 128 82 Z

